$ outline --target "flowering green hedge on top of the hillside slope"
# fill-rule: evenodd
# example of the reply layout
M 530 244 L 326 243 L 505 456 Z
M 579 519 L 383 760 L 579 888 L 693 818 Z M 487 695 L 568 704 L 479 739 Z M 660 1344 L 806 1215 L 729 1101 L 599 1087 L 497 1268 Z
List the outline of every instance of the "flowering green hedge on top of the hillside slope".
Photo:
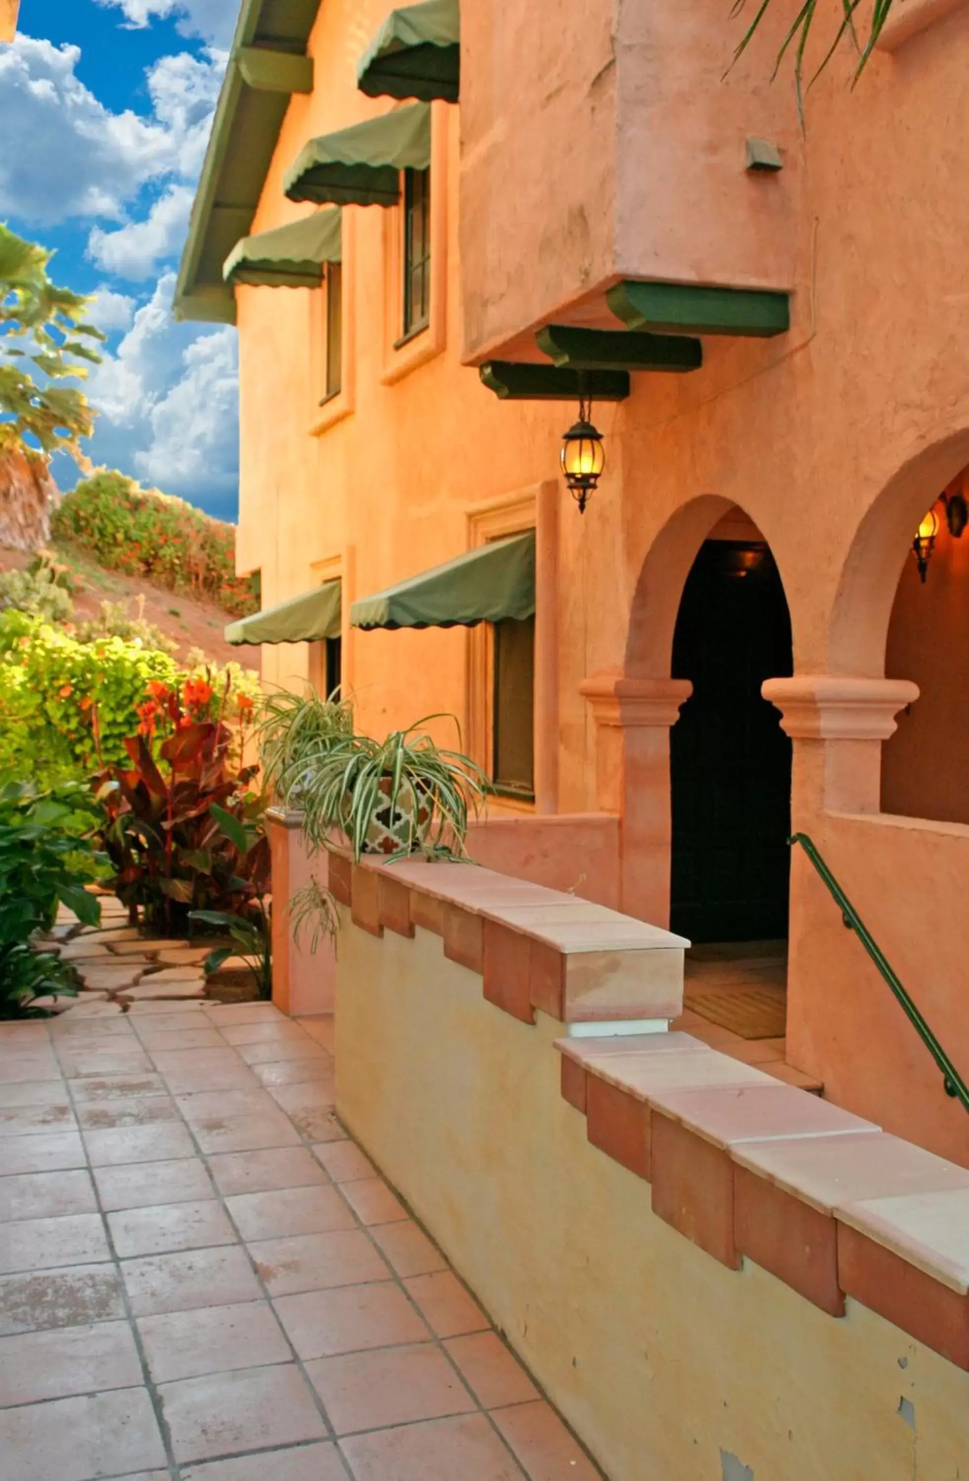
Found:
M 258 576 L 236 576 L 236 527 L 124 474 L 101 469 L 81 480 L 52 529 L 110 570 L 206 597 L 234 616 L 259 609 Z

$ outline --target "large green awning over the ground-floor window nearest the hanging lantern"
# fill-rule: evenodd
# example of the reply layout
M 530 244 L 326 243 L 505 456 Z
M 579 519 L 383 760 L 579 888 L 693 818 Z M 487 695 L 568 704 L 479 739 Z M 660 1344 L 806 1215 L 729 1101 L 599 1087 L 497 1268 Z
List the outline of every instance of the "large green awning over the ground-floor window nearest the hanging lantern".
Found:
M 535 615 L 535 532 L 495 541 L 354 601 L 354 628 L 473 628 Z

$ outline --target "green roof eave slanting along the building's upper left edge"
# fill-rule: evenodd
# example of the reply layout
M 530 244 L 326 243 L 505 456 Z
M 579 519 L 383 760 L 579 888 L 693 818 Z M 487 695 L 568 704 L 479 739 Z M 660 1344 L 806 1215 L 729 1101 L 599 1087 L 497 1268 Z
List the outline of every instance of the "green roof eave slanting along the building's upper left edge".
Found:
M 176 318 L 236 323 L 222 265 L 252 227 L 290 101 L 289 92 L 249 86 L 240 56 L 259 47 L 305 56 L 319 7 L 320 0 L 242 0 L 175 284 Z

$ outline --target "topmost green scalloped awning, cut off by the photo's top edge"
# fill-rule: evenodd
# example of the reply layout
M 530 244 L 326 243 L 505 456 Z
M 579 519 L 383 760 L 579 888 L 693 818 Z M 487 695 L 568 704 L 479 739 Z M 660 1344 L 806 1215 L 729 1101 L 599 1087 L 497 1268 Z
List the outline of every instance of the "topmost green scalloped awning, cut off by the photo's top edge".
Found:
M 357 64 L 357 87 L 370 98 L 458 101 L 461 6 L 425 0 L 391 10 Z

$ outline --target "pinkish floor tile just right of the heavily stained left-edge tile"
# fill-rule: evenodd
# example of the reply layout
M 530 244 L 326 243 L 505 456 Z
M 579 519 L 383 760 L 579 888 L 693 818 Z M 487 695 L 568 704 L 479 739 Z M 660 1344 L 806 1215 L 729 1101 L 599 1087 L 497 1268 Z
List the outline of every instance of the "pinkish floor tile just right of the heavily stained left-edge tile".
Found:
M 124 1260 L 121 1275 L 136 1317 L 160 1311 L 193 1311 L 197 1306 L 230 1306 L 258 1300 L 262 1294 L 240 1246 Z

